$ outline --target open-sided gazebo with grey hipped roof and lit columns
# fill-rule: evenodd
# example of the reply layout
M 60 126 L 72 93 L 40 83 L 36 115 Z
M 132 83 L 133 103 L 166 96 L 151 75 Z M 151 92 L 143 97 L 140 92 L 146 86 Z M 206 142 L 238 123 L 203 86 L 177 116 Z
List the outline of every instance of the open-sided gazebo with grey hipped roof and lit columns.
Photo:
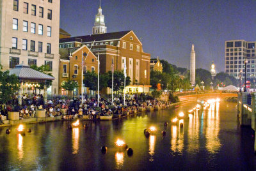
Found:
M 47 80 L 54 80 L 54 77 L 47 75 L 45 73 L 41 73 L 40 71 L 33 70 L 26 64 L 18 64 L 10 70 L 10 75 L 15 74 L 20 80 L 20 90 L 18 95 L 18 102 L 21 105 L 21 96 L 24 89 L 28 89 L 28 87 L 36 88 L 40 87 L 40 84 L 44 84 L 44 100 L 47 100 L 47 89 L 45 82 Z

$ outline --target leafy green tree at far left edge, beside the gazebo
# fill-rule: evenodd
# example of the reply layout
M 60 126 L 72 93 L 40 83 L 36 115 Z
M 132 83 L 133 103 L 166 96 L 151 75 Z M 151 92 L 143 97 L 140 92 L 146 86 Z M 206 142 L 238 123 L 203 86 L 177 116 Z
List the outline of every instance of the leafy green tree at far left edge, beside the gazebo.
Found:
M 0 65 L 2 70 L 2 66 Z M 9 75 L 10 71 L 0 71 L 0 101 L 6 104 L 12 100 L 15 92 L 19 91 L 20 82 L 16 75 Z

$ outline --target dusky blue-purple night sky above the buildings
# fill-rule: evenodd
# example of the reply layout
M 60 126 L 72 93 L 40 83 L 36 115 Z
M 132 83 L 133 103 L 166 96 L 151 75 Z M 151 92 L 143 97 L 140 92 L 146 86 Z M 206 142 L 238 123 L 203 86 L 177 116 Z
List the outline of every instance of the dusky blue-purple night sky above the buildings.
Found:
M 224 70 L 225 40 L 256 41 L 256 1 L 102 0 L 107 32 L 133 30 L 144 52 L 189 68 Z M 61 0 L 60 27 L 72 36 L 92 34 L 97 0 Z

